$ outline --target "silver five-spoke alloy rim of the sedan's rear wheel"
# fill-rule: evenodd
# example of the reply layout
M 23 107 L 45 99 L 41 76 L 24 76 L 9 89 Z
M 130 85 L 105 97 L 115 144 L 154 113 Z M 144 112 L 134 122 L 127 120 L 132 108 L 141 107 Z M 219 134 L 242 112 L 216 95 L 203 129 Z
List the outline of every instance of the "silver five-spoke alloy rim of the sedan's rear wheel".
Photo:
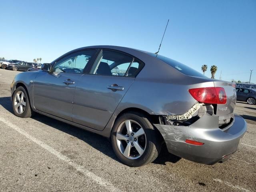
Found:
M 128 159 L 138 159 L 146 150 L 146 134 L 142 126 L 134 120 L 122 122 L 116 132 L 119 151 Z

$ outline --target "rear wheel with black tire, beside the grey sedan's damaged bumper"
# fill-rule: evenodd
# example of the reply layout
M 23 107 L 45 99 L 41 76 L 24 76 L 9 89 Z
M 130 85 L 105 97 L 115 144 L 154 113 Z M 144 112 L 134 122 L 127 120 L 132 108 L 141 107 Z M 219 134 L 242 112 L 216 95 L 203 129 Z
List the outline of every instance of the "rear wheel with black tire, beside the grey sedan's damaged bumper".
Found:
M 129 125 L 129 122 L 131 135 L 128 136 L 126 124 Z M 141 136 L 136 137 L 139 134 Z M 158 157 L 162 146 L 159 133 L 148 118 L 138 112 L 125 113 L 116 120 L 111 132 L 111 142 L 118 159 L 131 167 L 153 162 Z M 127 153 L 126 149 L 129 146 L 130 152 Z

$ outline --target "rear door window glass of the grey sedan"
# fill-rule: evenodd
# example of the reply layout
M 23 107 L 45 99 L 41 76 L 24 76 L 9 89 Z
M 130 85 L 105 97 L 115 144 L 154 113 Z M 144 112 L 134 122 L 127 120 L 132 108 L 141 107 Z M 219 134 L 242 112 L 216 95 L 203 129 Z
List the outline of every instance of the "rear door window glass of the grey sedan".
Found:
M 102 50 L 94 62 L 91 74 L 135 77 L 140 64 L 120 52 Z

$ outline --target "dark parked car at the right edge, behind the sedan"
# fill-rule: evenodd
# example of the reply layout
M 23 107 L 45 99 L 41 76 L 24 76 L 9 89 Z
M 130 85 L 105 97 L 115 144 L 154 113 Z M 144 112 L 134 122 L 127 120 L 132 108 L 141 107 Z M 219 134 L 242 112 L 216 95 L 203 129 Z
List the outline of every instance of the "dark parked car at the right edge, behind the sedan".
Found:
M 250 105 L 256 103 L 256 91 L 249 88 L 236 88 L 236 100 L 246 101 Z

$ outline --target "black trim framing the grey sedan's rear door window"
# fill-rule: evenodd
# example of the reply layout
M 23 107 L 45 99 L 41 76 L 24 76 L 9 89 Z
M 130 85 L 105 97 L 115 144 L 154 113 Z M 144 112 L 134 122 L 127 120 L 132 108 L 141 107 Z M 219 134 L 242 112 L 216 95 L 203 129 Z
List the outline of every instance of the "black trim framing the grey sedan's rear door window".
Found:
M 124 75 L 124 76 L 102 75 L 102 74 L 92 74 L 92 73 L 91 73 L 91 71 L 92 71 L 92 69 L 93 69 L 93 66 L 94 66 L 95 62 L 96 62 L 96 60 L 98 60 L 98 56 L 100 56 L 100 53 L 101 53 L 102 51 L 118 52 L 118 53 L 121 53 L 121 54 L 124 54 L 124 55 L 130 56 L 130 57 L 132 58 L 132 61 L 130 62 L 130 65 L 128 66 L 128 68 L 127 68 L 127 70 L 126 70 L 126 72 L 125 72 L 125 75 Z M 141 65 L 142 65 L 142 67 L 141 67 L 141 68 L 138 68 L 138 69 L 139 69 L 139 71 L 138 71 L 138 73 L 136 74 L 136 76 L 138 76 L 138 74 L 141 72 L 141 70 L 142 70 L 142 69 L 144 68 L 144 66 L 145 66 L 145 63 L 144 63 L 144 62 L 142 62 L 142 60 L 138 59 L 137 57 L 134 57 L 134 56 L 133 56 L 133 55 L 131 55 L 131 54 L 128 54 L 128 53 L 123 52 L 123 51 L 120 51 L 120 50 L 116 50 L 116 49 L 109 49 L 109 48 L 99 48 L 99 49 L 98 49 L 98 52 L 97 52 L 97 56 L 95 56 L 94 62 L 92 63 L 92 66 L 90 66 L 90 70 L 89 70 L 89 73 L 88 73 L 88 74 L 90 74 L 90 75 L 101 75 L 101 76 L 113 76 L 113 77 L 136 78 L 136 76 L 135 76 L 135 77 L 129 77 L 129 76 L 126 76 L 126 74 L 127 74 L 128 70 L 130 69 L 130 67 L 131 67 L 132 63 L 134 62 L 134 60 L 136 60 L 139 64 L 141 64 Z

